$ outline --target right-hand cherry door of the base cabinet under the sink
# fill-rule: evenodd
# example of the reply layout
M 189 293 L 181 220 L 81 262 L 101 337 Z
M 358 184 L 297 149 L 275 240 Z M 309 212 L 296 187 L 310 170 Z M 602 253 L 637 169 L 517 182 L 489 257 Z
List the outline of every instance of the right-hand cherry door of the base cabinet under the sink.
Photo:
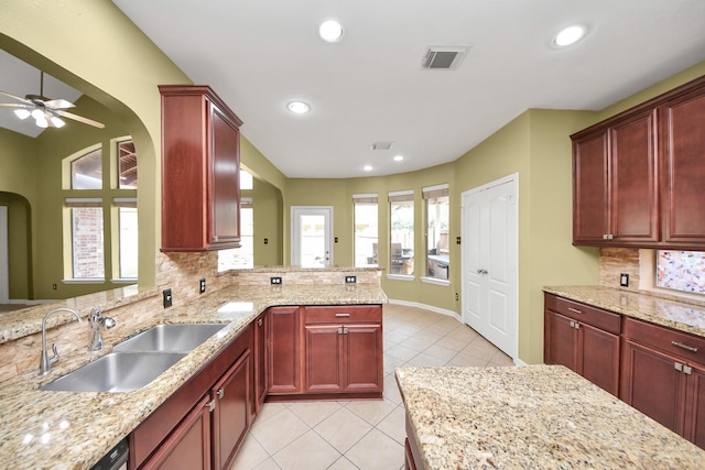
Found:
M 250 427 L 250 350 L 246 350 L 210 390 L 214 469 L 228 468 Z

